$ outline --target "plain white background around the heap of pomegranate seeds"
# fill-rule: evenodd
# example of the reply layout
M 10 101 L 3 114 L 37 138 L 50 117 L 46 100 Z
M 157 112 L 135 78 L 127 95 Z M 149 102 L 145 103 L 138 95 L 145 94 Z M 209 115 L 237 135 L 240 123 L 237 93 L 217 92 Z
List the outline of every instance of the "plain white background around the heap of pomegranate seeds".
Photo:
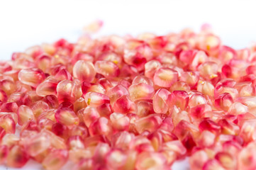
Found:
M 59 38 L 74 42 L 96 19 L 104 21 L 100 35 L 145 31 L 161 35 L 186 27 L 199 30 L 201 24 L 210 23 L 226 45 L 243 48 L 256 40 L 255 8 L 256 1 L 0 0 L 0 60 L 42 42 Z M 23 169 L 41 167 L 29 164 Z

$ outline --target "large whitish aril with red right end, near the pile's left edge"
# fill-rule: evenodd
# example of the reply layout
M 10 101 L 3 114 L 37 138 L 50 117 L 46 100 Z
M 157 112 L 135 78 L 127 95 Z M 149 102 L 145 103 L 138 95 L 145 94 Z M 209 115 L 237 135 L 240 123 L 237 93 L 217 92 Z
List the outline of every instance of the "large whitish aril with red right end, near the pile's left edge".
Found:
M 23 84 L 37 87 L 45 79 L 45 74 L 41 69 L 21 69 L 18 72 L 18 80 Z

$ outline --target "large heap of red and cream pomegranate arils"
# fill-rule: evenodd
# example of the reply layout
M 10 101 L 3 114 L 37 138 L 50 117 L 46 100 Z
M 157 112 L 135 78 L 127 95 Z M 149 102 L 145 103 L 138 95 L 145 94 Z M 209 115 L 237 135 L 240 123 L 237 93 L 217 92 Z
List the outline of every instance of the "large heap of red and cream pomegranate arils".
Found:
M 256 45 L 211 28 L 83 35 L 0 62 L 0 163 L 44 169 L 256 169 Z

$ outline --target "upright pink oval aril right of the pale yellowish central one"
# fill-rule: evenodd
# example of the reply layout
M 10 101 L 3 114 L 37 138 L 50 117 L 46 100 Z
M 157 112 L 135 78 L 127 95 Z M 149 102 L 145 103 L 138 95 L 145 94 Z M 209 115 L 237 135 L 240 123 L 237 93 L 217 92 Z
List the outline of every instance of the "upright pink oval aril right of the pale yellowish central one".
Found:
M 170 101 L 171 93 L 166 89 L 159 89 L 153 96 L 153 108 L 155 113 L 167 113 Z

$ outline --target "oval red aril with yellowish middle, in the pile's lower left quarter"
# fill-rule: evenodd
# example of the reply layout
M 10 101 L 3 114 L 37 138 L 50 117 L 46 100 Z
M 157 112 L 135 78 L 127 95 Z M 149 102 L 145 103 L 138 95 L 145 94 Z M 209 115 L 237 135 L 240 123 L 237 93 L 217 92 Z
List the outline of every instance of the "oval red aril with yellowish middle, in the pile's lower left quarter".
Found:
M 59 108 L 55 113 L 55 119 L 68 127 L 79 125 L 79 118 L 70 108 Z

